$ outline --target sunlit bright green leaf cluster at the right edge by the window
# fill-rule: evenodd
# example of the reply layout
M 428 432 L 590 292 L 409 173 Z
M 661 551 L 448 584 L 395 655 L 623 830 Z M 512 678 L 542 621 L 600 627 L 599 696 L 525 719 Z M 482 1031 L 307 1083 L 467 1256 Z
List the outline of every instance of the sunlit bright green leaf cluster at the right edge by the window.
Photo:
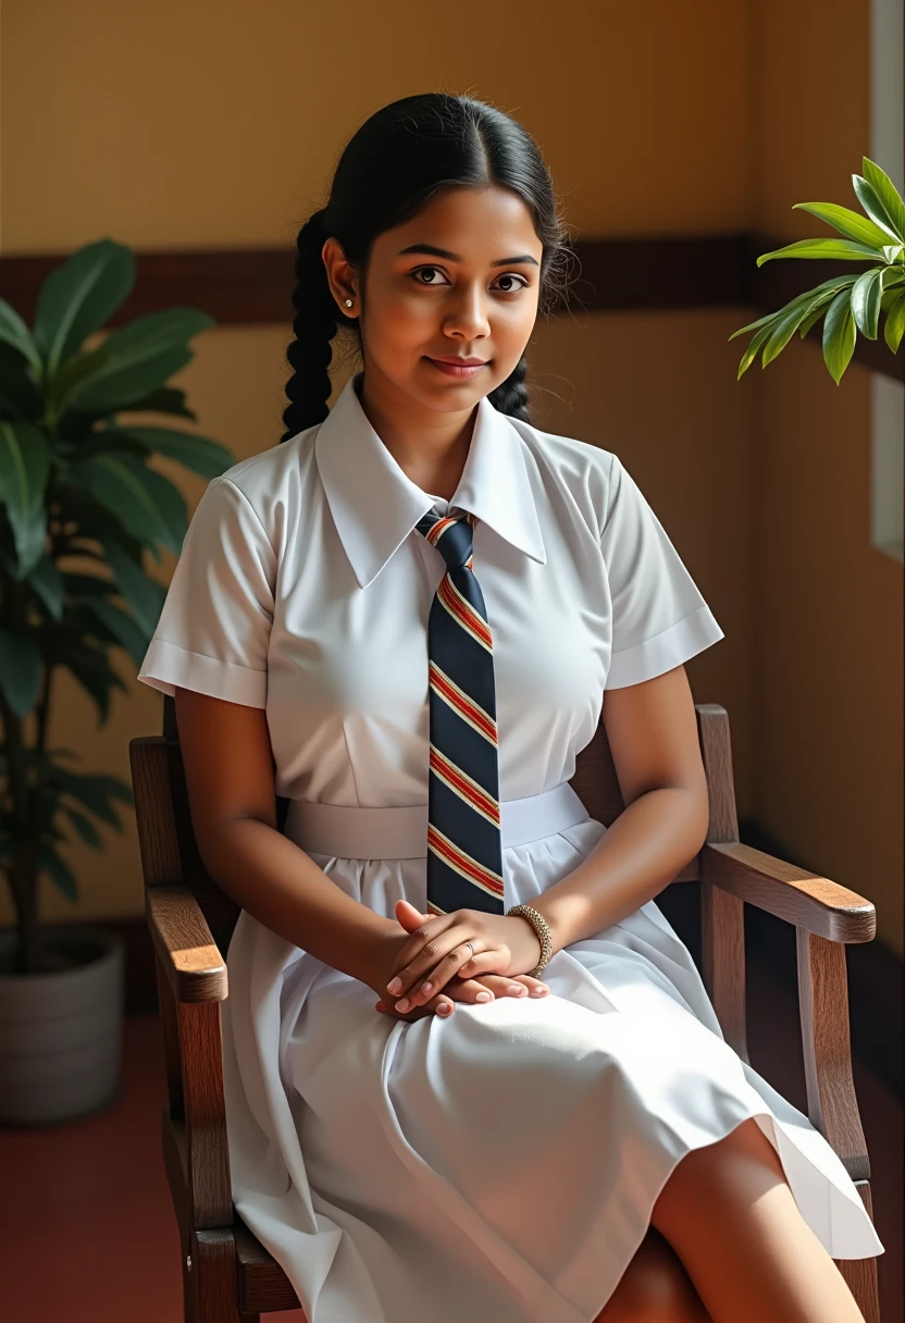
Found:
M 889 176 L 867 156 L 861 168 L 864 175 L 852 175 L 852 184 L 865 216 L 834 202 L 795 202 L 793 208 L 812 212 L 844 238 L 800 239 L 763 253 L 757 265 L 777 257 L 843 258 L 880 265 L 860 275 L 835 275 L 807 294 L 799 294 L 778 312 L 734 331 L 730 340 L 745 331 L 754 331 L 738 364 L 738 377 L 748 370 L 758 351 L 763 351 L 761 366 L 766 368 L 795 331 L 803 340 L 824 312 L 823 361 L 836 385 L 855 352 L 857 332 L 868 340 L 877 339 L 881 311 L 886 314 L 884 340 L 893 353 L 898 349 L 905 331 L 905 204 Z

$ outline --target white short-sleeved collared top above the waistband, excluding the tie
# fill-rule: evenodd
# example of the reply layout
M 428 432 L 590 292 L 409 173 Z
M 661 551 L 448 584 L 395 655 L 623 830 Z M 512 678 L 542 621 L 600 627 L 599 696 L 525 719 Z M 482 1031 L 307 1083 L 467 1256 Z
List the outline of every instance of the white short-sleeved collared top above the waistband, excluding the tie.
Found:
M 324 422 L 210 482 L 139 680 L 266 708 L 280 796 L 426 803 L 426 630 L 445 562 L 415 524 L 470 511 L 500 799 L 569 781 L 605 689 L 680 665 L 722 630 L 615 454 L 483 398 L 447 503 L 400 468 L 359 378 Z

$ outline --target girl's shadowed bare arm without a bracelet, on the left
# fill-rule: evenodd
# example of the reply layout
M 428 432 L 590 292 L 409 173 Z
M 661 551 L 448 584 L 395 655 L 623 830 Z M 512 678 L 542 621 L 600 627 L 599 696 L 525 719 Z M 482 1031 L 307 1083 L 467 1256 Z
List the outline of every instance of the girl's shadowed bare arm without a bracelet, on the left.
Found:
M 213 880 L 265 927 L 368 982 L 378 938 L 400 925 L 347 896 L 277 830 L 265 710 L 177 688 L 176 721 L 192 827 Z

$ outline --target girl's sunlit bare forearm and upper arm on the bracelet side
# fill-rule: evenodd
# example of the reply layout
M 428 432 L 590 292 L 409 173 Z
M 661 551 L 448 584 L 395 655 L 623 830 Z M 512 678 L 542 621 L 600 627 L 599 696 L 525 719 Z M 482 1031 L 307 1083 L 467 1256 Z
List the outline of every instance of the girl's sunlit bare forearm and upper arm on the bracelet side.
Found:
M 554 953 L 654 900 L 707 840 L 707 775 L 684 665 L 607 691 L 602 720 L 626 807 L 578 868 L 532 901 Z

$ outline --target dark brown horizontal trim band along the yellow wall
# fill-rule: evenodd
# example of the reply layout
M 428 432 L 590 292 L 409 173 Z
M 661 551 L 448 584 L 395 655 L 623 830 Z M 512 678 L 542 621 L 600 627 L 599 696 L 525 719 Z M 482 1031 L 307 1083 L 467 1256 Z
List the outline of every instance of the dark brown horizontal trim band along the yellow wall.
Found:
M 848 262 L 778 259 L 757 267 L 757 258 L 785 239 L 758 233 L 704 234 L 697 238 L 581 239 L 574 245 L 576 280 L 570 307 L 587 312 L 636 312 L 737 307 L 741 321 L 775 312 L 794 295 L 852 269 Z M 0 257 L 0 292 L 32 324 L 37 292 L 66 254 Z M 292 318 L 291 249 L 224 249 L 136 253 L 135 290 L 111 318 L 120 325 L 156 308 L 197 307 L 221 325 L 288 323 Z M 856 265 L 853 270 L 863 270 Z M 754 316 L 744 312 L 750 308 Z M 740 319 L 741 320 L 741 319 Z M 807 339 L 818 349 L 823 321 Z M 738 357 L 750 336 L 738 336 Z M 860 333 L 855 360 L 905 381 L 905 345 L 892 355 L 883 341 Z

